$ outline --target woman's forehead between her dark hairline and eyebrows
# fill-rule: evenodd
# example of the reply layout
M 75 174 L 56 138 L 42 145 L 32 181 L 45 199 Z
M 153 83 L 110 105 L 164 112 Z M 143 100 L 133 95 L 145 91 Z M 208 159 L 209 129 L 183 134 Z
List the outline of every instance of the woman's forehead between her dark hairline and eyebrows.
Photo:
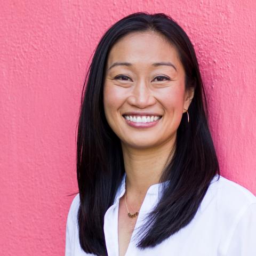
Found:
M 154 31 L 135 32 L 119 39 L 109 52 L 108 66 L 115 61 L 145 64 L 172 61 L 177 66 L 180 62 L 175 47 Z

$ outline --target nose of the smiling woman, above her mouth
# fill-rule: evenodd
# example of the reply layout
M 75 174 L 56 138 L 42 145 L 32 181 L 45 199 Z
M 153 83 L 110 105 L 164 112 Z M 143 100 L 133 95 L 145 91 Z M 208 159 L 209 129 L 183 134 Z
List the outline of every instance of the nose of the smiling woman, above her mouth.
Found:
M 141 79 L 134 85 L 133 90 L 127 98 L 127 102 L 138 108 L 146 108 L 155 104 L 156 99 L 153 94 L 150 84 L 144 79 Z

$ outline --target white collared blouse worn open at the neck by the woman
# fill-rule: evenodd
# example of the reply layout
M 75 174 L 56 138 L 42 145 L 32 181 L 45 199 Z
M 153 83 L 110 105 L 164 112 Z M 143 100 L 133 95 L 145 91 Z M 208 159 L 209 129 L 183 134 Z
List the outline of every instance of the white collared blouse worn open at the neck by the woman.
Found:
M 124 178 L 114 204 L 104 218 L 108 256 L 118 256 L 118 206 L 124 195 Z M 125 256 L 256 256 L 256 197 L 246 188 L 216 175 L 194 219 L 161 244 L 139 250 L 133 231 Z M 135 229 L 158 200 L 159 184 L 152 185 L 141 205 Z M 79 244 L 77 212 L 79 194 L 71 203 L 66 225 L 66 256 L 94 255 L 85 253 Z M 135 230 L 134 229 L 134 230 Z

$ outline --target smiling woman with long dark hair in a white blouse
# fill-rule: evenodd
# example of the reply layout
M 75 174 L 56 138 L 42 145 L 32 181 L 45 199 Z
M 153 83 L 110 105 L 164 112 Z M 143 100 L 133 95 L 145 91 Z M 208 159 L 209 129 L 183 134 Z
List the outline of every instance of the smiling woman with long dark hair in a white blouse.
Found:
M 256 198 L 219 175 L 198 62 L 165 14 L 118 21 L 95 50 L 67 255 L 256 255 Z

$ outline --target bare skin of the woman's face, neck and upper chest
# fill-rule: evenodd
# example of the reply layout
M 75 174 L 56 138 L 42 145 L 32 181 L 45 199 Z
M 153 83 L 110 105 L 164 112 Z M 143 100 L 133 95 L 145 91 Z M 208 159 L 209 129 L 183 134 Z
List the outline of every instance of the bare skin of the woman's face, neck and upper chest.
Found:
M 116 65 L 128 62 L 130 65 Z M 169 62 L 172 66 L 154 66 Z M 111 67 L 113 66 L 113 67 Z M 122 76 L 120 76 L 122 75 Z M 103 87 L 105 115 L 120 138 L 126 172 L 126 202 L 129 211 L 140 210 L 148 188 L 159 183 L 170 161 L 182 114 L 189 108 L 194 90 L 185 88 L 185 70 L 167 39 L 153 31 L 121 38 L 110 50 Z M 127 125 L 127 111 L 153 111 L 162 118 L 148 128 Z M 124 196 L 119 201 L 119 255 L 125 255 L 137 218 L 129 218 Z

